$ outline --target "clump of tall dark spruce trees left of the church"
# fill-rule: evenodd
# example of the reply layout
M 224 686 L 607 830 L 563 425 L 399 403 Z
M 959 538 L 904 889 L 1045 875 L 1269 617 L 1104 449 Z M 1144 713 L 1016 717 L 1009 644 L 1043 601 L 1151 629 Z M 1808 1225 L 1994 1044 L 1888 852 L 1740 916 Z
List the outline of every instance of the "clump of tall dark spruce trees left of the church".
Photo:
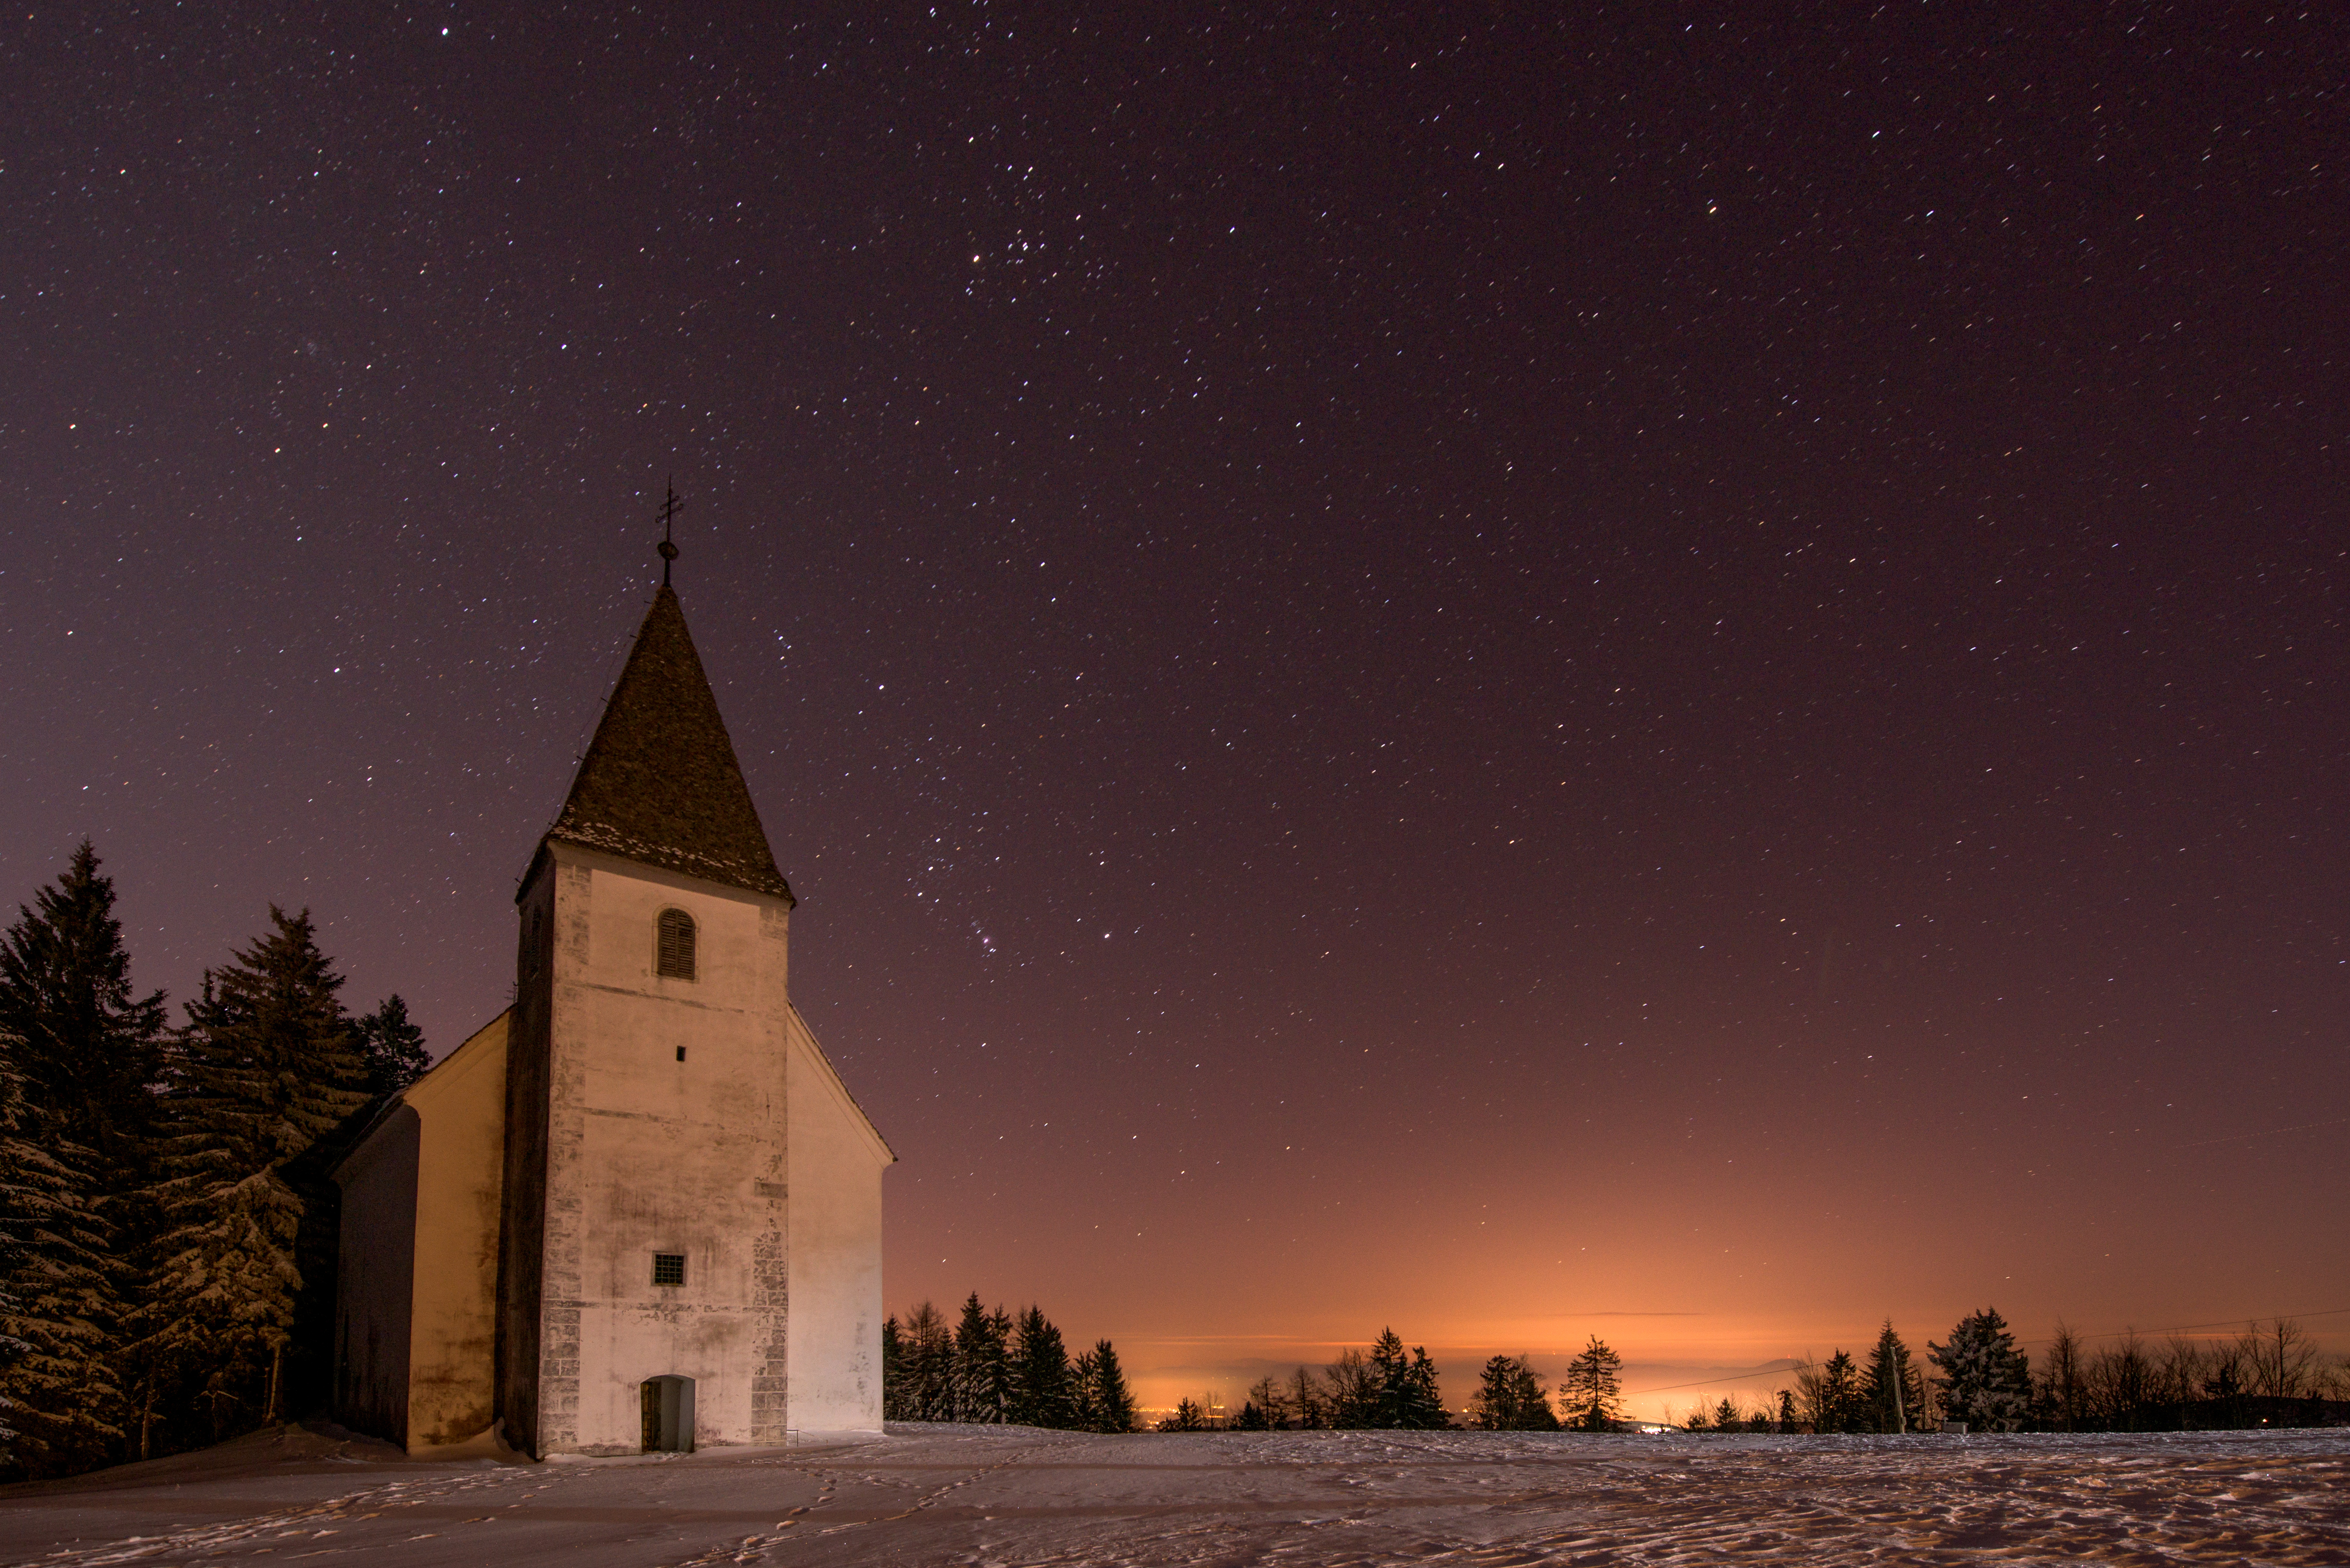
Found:
M 310 912 L 136 994 L 85 839 L 0 936 L 0 1479 L 216 1443 L 324 1403 L 329 1171 L 423 1074 L 392 994 L 352 1018 Z

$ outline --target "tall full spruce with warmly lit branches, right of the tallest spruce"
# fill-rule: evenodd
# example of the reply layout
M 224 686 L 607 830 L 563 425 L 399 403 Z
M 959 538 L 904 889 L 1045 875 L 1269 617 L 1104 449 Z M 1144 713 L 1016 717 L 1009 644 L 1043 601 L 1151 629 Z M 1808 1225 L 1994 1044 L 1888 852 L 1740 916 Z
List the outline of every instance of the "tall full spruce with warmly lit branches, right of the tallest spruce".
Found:
M 204 973 L 164 1103 L 141 1335 L 141 1420 L 188 1439 L 284 1420 L 322 1389 L 334 1324 L 334 1135 L 367 1105 L 367 1065 L 310 912 Z M 322 1147 L 324 1145 L 324 1147 Z

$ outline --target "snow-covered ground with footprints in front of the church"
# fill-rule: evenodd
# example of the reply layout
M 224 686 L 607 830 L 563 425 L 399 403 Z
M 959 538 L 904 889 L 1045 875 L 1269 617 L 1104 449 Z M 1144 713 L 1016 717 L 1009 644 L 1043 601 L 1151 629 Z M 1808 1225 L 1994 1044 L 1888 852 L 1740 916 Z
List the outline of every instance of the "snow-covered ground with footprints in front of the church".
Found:
M 519 1465 L 287 1429 L 0 1488 L 0 1561 L 2350 1563 L 2350 1432 L 1551 1436 L 893 1427 Z

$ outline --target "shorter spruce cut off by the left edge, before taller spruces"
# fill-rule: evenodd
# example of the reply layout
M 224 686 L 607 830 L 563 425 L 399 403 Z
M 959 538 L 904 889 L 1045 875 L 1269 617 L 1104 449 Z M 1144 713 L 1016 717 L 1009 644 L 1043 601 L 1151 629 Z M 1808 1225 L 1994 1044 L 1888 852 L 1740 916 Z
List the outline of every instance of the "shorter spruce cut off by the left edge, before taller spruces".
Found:
M 16 1039 L 0 1034 L 0 1469 L 70 1476 L 120 1453 L 103 1232 L 73 1145 L 26 1138 Z

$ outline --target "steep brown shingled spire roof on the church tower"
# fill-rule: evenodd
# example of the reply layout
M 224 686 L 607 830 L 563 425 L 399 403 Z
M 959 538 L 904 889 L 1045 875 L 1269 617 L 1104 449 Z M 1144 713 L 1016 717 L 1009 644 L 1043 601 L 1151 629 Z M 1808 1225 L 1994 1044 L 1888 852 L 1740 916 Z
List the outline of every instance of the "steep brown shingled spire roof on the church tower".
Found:
M 792 903 L 667 585 L 637 628 L 548 839 Z

